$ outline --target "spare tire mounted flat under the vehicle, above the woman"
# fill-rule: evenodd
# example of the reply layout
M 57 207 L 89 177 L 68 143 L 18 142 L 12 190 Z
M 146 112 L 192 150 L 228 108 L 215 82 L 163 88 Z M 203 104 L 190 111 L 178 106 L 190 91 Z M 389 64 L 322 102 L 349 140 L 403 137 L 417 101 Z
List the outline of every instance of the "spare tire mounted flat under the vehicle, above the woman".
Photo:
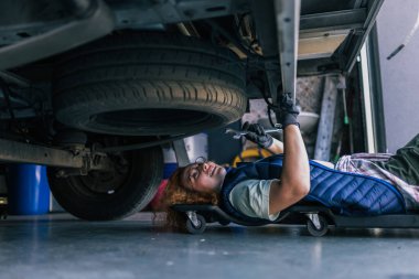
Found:
M 245 68 L 225 47 L 168 33 L 112 34 L 67 54 L 55 69 L 56 118 L 110 135 L 180 135 L 245 112 Z

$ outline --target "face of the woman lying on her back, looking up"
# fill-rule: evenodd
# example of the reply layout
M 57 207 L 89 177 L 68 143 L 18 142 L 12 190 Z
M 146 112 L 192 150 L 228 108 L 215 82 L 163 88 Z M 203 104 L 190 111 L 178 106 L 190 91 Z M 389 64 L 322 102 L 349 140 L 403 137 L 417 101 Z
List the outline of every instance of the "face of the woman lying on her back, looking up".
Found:
M 217 193 L 222 189 L 226 170 L 214 163 L 189 164 L 182 174 L 182 184 L 200 193 Z

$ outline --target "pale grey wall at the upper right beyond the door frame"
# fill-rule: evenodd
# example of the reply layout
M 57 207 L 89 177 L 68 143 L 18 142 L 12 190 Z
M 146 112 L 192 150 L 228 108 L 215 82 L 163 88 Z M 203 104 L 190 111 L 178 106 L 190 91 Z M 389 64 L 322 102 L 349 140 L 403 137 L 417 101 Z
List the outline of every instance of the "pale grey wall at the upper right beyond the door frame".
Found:
M 395 57 L 418 17 L 418 0 L 385 0 L 377 15 L 387 149 L 395 152 L 419 132 L 419 30 Z

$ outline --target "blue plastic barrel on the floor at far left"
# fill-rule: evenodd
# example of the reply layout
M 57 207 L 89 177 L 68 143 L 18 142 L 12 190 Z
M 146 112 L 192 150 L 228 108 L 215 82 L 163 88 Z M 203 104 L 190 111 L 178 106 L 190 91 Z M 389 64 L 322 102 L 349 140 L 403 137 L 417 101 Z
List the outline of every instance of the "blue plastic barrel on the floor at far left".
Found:
M 44 165 L 10 164 L 7 183 L 9 214 L 37 215 L 49 212 L 50 186 Z

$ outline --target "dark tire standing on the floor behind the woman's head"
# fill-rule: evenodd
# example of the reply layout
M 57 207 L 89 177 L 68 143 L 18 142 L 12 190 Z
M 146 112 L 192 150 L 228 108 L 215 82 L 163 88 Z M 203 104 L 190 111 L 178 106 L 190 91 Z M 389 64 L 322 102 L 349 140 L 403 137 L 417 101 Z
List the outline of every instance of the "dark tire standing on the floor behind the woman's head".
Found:
M 58 176 L 47 168 L 51 192 L 68 213 L 88 221 L 109 221 L 142 210 L 154 196 L 163 175 L 160 147 L 110 155 L 115 168 L 88 175 Z

